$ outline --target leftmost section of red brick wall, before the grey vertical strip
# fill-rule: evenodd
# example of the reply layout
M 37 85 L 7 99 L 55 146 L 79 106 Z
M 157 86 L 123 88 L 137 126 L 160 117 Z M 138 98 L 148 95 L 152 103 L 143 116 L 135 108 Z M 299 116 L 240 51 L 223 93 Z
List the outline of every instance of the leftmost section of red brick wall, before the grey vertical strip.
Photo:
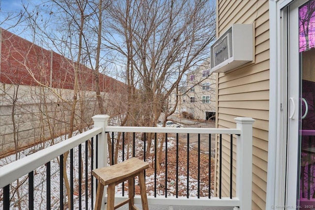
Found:
M 36 80 L 49 82 L 49 51 L 6 30 L 2 30 L 1 35 L 1 83 L 36 85 L 27 69 L 32 69 Z

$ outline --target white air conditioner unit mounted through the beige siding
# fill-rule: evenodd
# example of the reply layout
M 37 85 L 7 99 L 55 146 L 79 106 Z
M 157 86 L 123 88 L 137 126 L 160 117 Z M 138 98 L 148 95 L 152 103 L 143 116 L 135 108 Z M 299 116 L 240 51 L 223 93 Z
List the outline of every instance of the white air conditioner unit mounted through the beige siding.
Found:
M 211 46 L 211 71 L 226 72 L 253 59 L 252 24 L 233 24 Z

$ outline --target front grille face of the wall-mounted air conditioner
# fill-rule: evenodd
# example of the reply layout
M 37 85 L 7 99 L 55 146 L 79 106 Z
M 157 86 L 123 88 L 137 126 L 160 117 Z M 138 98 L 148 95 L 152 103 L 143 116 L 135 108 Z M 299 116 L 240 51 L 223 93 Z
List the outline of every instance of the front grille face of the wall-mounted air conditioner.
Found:
M 216 44 L 211 47 L 211 68 L 222 63 L 233 56 L 232 28 L 227 30 Z

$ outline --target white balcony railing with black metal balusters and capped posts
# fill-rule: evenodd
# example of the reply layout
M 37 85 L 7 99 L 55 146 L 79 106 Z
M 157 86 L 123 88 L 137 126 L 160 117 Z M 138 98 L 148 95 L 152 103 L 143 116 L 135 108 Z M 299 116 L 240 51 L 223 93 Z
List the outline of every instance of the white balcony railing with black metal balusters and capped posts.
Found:
M 36 153 L 33 153 L 29 156 L 26 156 L 20 160 L 17 160 L 15 162 L 12 162 L 10 164 L 7 164 L 5 166 L 2 166 L 0 168 L 0 188 L 3 188 L 2 191 L 0 191 L 0 208 L 1 205 L 4 210 L 10 209 L 10 207 L 13 206 L 12 203 L 14 203 L 14 200 L 16 200 L 16 194 L 13 189 L 16 187 L 16 180 L 21 179 L 25 176 L 28 176 L 28 187 L 27 194 L 28 194 L 28 207 L 29 209 L 32 209 L 32 207 L 36 206 L 36 199 L 38 198 L 36 195 L 34 196 L 35 190 L 34 190 L 34 174 L 37 173 L 38 167 L 46 166 L 46 182 L 45 187 L 47 191 L 47 196 L 45 199 L 45 202 L 47 204 L 47 209 L 50 209 L 50 207 L 53 205 L 52 203 L 52 195 L 51 195 L 51 181 L 52 176 L 50 172 L 50 163 L 56 159 L 59 158 L 58 162 L 60 163 L 60 172 L 59 172 L 59 180 L 60 180 L 60 193 L 59 193 L 59 204 L 58 208 L 62 208 L 67 203 L 67 206 L 69 209 L 73 209 L 75 205 L 79 207 L 79 209 L 82 208 L 82 205 L 85 205 L 86 209 L 93 209 L 93 203 L 92 202 L 95 199 L 95 190 L 96 190 L 96 181 L 94 179 L 91 180 L 91 170 L 94 168 L 100 168 L 105 167 L 108 163 L 108 156 L 112 154 L 108 154 L 108 145 L 107 145 L 107 134 L 109 133 L 110 138 L 112 139 L 112 144 L 110 147 L 112 149 L 114 148 L 114 142 L 115 138 L 118 137 L 118 134 L 121 133 L 122 135 L 122 143 L 121 146 L 123 150 L 123 160 L 126 159 L 127 156 L 124 154 L 125 151 L 125 134 L 126 133 L 132 133 L 133 138 L 131 141 L 131 148 L 132 148 L 132 154 L 131 156 L 138 156 L 140 158 L 143 158 L 145 161 L 149 161 L 149 157 L 146 157 L 146 141 L 143 141 L 144 145 L 136 146 L 135 145 L 135 139 L 136 139 L 136 133 L 144 134 L 144 139 L 146 139 L 145 134 L 147 133 L 154 133 L 155 139 L 153 143 L 155 155 L 150 159 L 152 163 L 155 163 L 154 168 L 154 192 L 153 195 L 148 196 L 148 203 L 149 205 L 169 205 L 169 206 L 207 206 L 207 207 L 230 207 L 230 208 L 239 208 L 242 210 L 248 210 L 252 209 L 252 123 L 253 119 L 251 118 L 236 118 L 236 128 L 235 129 L 215 129 L 215 128 L 163 128 L 163 127 L 119 127 L 119 126 L 108 126 L 107 121 L 109 119 L 109 116 L 106 115 L 97 115 L 93 117 L 93 120 L 95 122 L 94 128 L 86 131 L 82 134 L 79 134 L 77 136 L 74 136 L 70 139 L 67 139 L 66 141 L 63 141 L 61 143 L 58 143 L 56 145 L 53 145 L 51 147 L 48 147 L 44 150 L 40 150 Z M 230 169 L 233 167 L 236 168 L 236 193 L 235 197 L 232 197 L 232 193 L 230 193 L 230 197 L 222 197 L 221 196 L 221 168 L 220 169 L 220 175 L 219 175 L 219 189 L 220 189 L 220 196 L 219 197 L 212 197 L 210 194 L 210 188 L 209 188 L 209 195 L 208 196 L 201 196 L 199 194 L 199 180 L 198 180 L 198 192 L 197 196 L 191 196 L 189 194 L 189 150 L 187 150 L 187 185 L 186 185 L 186 196 L 180 196 L 177 192 L 178 190 L 178 181 L 179 181 L 179 174 L 178 171 L 176 171 L 176 195 L 175 196 L 167 196 L 167 189 L 168 185 L 170 184 L 169 179 L 167 176 L 170 177 L 170 175 L 167 175 L 167 144 L 166 150 L 165 150 L 165 174 L 163 175 L 165 179 L 164 180 L 164 188 L 165 193 L 164 195 L 159 195 L 157 193 L 157 179 L 161 179 L 160 177 L 157 178 L 157 171 L 156 171 L 156 159 L 157 159 L 157 134 L 165 134 L 165 141 L 167 141 L 167 134 L 174 133 L 177 136 L 177 145 L 178 145 L 178 134 L 187 134 L 187 148 L 189 148 L 189 134 L 197 134 L 209 135 L 209 141 L 211 135 L 217 135 L 219 134 L 221 142 L 221 136 L 222 134 L 230 135 L 231 141 L 232 141 L 232 135 L 236 135 L 236 166 L 230 165 Z M 95 138 L 96 137 L 96 138 Z M 142 136 L 143 137 L 143 136 Z M 91 139 L 92 138 L 92 139 Z M 198 142 L 199 143 L 199 142 Z M 88 151 L 89 145 L 91 144 L 91 150 Z M 86 150 L 83 152 L 81 151 L 81 147 L 86 148 Z M 142 147 L 141 154 L 138 154 L 135 150 L 136 147 Z M 78 154 L 79 154 L 79 170 L 75 170 L 75 167 L 73 166 L 74 162 L 77 161 L 77 159 L 73 158 L 73 155 L 76 154 L 76 150 L 78 148 Z M 199 148 L 199 147 L 198 147 Z M 220 147 L 221 148 L 221 147 Z M 231 148 L 233 148 L 231 146 Z M 209 149 L 210 150 L 210 149 Z M 62 176 L 62 159 L 63 159 L 63 153 L 70 151 L 70 167 L 69 167 L 69 174 L 70 174 L 70 186 L 71 186 L 71 196 L 69 198 L 69 201 L 63 201 L 63 176 Z M 178 149 L 176 150 L 177 152 Z M 90 153 L 89 153 L 90 152 Z M 210 152 L 210 151 L 209 151 Z M 221 151 L 219 151 L 221 152 Z M 200 154 L 200 151 L 198 150 L 198 154 Z M 231 155 L 233 152 L 231 152 Z M 179 155 L 176 154 L 176 157 Z M 221 157 L 221 155 L 219 155 Z M 81 159 L 85 159 L 85 161 L 80 161 Z M 231 156 L 232 159 L 232 156 Z M 210 167 L 209 170 L 200 170 L 200 157 L 198 155 L 198 178 L 200 173 L 208 173 L 209 175 L 209 187 L 210 187 Z M 209 154 L 209 161 L 210 161 L 210 154 Z M 81 163 L 83 162 L 83 163 Z M 220 161 L 222 162 L 222 161 Z M 230 161 L 233 162 L 233 161 Z M 153 165 L 152 164 L 152 165 Z M 178 159 L 177 159 L 178 164 Z M 84 170 L 85 168 L 85 170 Z M 227 166 L 228 168 L 228 166 Z M 76 171 L 76 174 L 73 174 Z M 83 173 L 80 173 L 80 171 L 85 171 Z M 35 173 L 34 173 L 35 172 Z M 231 173 L 232 174 L 232 173 Z M 174 176 L 173 176 L 174 177 Z M 160 181 L 160 180 L 158 180 Z M 232 176 L 230 177 L 230 183 L 232 183 Z M 228 183 L 228 185 L 230 185 Z M 74 186 L 78 185 L 79 192 L 74 193 L 73 188 Z M 85 190 L 82 191 L 82 187 L 85 187 Z M 231 186 L 231 185 L 230 185 Z M 83 188 L 84 188 L 83 187 Z M 124 189 L 124 188 L 123 188 Z M 231 187 L 230 187 L 231 190 Z M 117 195 L 116 201 L 119 201 L 120 199 L 123 199 L 124 190 L 122 193 Z M 73 196 L 73 194 L 76 194 L 76 196 Z M 42 197 L 42 196 L 41 196 Z M 55 196 L 54 196 L 55 197 Z M 106 193 L 104 193 L 104 199 L 106 200 Z M 76 200 L 78 200 L 76 202 Z M 35 205 L 34 205 L 35 201 Z M 90 203 L 89 203 L 90 202 Z M 43 203 L 43 202 L 41 202 Z M 76 203 L 74 205 L 74 203 Z M 135 196 L 135 204 L 141 204 L 141 200 L 139 196 Z

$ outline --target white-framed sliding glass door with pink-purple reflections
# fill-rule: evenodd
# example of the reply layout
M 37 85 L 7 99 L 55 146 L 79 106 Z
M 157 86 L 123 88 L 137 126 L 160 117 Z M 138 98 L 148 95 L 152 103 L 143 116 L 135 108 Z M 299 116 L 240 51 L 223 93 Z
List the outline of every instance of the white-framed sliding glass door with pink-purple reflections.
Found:
M 315 209 L 315 0 L 289 6 L 287 201 Z

